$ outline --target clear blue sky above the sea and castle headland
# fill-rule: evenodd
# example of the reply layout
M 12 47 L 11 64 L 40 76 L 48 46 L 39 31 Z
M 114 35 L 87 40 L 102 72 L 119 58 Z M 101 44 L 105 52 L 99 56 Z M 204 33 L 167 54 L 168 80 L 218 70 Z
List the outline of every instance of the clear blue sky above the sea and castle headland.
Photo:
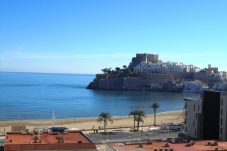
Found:
M 227 1 L 0 1 L 0 71 L 96 73 L 145 52 L 227 70 Z

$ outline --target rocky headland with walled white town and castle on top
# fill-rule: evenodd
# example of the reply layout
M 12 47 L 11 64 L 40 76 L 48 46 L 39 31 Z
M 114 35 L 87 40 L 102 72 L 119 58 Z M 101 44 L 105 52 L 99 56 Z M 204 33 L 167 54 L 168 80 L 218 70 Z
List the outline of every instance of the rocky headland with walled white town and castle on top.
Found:
M 157 54 L 136 54 L 129 66 L 105 68 L 88 88 L 112 90 L 147 90 L 201 92 L 227 89 L 227 72 L 218 67 L 199 68 L 178 62 L 164 62 Z

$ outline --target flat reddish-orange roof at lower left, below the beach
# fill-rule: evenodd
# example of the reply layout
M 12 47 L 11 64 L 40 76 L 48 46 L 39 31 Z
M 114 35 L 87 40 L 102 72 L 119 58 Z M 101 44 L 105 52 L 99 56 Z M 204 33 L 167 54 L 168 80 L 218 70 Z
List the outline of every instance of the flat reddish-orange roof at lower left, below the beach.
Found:
M 36 143 L 34 137 L 38 137 Z M 42 133 L 40 135 L 8 133 L 5 144 L 59 144 L 57 139 L 59 137 L 64 140 L 61 142 L 62 144 L 92 143 L 81 131 L 74 131 L 57 134 Z

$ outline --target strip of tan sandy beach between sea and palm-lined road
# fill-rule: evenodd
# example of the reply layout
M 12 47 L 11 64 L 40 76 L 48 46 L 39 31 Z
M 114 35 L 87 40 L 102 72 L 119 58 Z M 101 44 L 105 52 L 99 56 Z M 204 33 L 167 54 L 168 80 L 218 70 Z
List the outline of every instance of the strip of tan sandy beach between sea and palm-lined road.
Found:
M 133 118 L 128 116 L 112 117 L 113 123 L 108 123 L 108 128 L 123 128 L 133 127 Z M 184 113 L 182 110 L 179 111 L 168 111 L 157 114 L 157 124 L 164 123 L 183 123 Z M 96 118 L 75 118 L 75 119 L 56 119 L 56 120 L 15 120 L 15 121 L 0 121 L 0 128 L 6 128 L 16 125 L 26 125 L 27 127 L 51 127 L 53 126 L 64 126 L 74 129 L 92 129 L 103 126 L 103 123 L 97 123 Z M 146 115 L 144 118 L 144 126 L 153 124 L 153 114 Z M 0 130 L 1 130 L 0 129 Z

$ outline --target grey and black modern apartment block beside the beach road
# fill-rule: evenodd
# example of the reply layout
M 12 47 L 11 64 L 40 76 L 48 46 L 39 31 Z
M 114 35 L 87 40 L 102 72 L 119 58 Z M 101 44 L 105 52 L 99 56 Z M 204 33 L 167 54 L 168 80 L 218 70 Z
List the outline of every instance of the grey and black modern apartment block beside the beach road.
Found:
M 199 139 L 227 140 L 227 92 L 204 91 L 185 100 L 185 132 Z

